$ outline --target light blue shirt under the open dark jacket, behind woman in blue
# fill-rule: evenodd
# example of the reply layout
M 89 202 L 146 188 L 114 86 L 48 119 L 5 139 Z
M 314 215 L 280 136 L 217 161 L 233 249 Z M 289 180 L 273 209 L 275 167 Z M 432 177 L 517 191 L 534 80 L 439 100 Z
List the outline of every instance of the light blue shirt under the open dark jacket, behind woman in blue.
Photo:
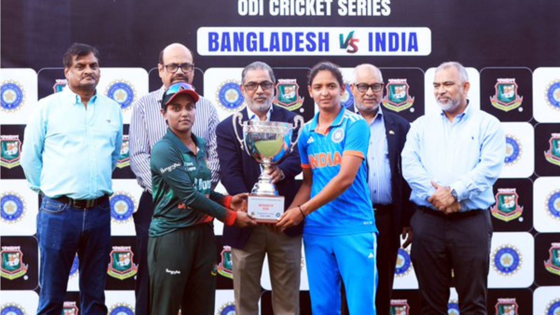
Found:
M 367 147 L 368 180 L 371 202 L 374 205 L 390 205 L 391 165 L 389 163 L 389 146 L 385 133 L 385 121 L 381 106 L 370 123 L 370 144 Z

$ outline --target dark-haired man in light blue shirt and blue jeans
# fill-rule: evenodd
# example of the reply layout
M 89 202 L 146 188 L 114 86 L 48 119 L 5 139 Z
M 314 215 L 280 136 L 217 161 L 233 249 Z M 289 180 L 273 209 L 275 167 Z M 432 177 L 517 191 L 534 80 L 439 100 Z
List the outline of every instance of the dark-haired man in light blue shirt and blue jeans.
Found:
M 68 275 L 78 253 L 81 311 L 106 314 L 109 196 L 123 118 L 118 103 L 97 94 L 97 49 L 72 44 L 63 63 L 68 85 L 36 105 L 21 154 L 27 182 L 43 195 L 37 217 L 41 288 L 37 313 L 62 313 Z

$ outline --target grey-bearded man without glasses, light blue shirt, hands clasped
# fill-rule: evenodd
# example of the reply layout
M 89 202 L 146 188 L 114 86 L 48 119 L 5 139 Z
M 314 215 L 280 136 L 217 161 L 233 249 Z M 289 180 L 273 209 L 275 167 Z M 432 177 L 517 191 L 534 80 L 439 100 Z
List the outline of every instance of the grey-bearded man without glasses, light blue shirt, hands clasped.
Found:
M 461 64 L 437 67 L 433 87 L 442 111 L 412 124 L 402 152 L 410 200 L 419 206 L 410 221 L 410 256 L 421 313 L 447 313 L 453 271 L 460 312 L 486 314 L 493 231 L 488 208 L 505 158 L 505 135 L 498 119 L 469 105 Z

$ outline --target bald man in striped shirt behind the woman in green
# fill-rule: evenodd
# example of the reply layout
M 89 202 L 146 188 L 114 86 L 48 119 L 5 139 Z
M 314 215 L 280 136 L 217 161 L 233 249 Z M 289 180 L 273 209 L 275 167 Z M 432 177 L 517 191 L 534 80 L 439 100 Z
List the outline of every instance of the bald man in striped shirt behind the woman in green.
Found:
M 138 211 L 134 213 L 136 239 L 138 243 L 138 274 L 136 279 L 136 314 L 150 312 L 150 279 L 148 278 L 147 244 L 148 228 L 153 214 L 152 174 L 150 155 L 153 145 L 166 133 L 167 125 L 160 113 L 162 95 L 170 85 L 176 82 L 192 84 L 194 78 L 193 54 L 184 45 L 170 44 L 160 52 L 157 64 L 162 86 L 138 99 L 133 106 L 130 122 L 130 168 L 136 175 L 138 184 L 144 189 L 140 198 Z M 202 96 L 197 104 L 197 119 L 193 133 L 207 143 L 208 167 L 212 171 L 212 187 L 220 180 L 220 165 L 216 153 L 216 125 L 218 115 L 216 108 Z

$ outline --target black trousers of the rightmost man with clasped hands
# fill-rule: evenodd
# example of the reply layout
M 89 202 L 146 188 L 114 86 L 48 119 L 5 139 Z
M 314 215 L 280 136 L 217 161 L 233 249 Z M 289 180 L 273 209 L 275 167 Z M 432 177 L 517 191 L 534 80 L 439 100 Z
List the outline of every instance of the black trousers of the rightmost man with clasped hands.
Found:
M 459 295 L 461 314 L 487 314 L 493 231 L 489 211 L 445 215 L 421 207 L 410 225 L 414 232 L 410 258 L 418 279 L 421 314 L 447 314 L 451 286 Z

